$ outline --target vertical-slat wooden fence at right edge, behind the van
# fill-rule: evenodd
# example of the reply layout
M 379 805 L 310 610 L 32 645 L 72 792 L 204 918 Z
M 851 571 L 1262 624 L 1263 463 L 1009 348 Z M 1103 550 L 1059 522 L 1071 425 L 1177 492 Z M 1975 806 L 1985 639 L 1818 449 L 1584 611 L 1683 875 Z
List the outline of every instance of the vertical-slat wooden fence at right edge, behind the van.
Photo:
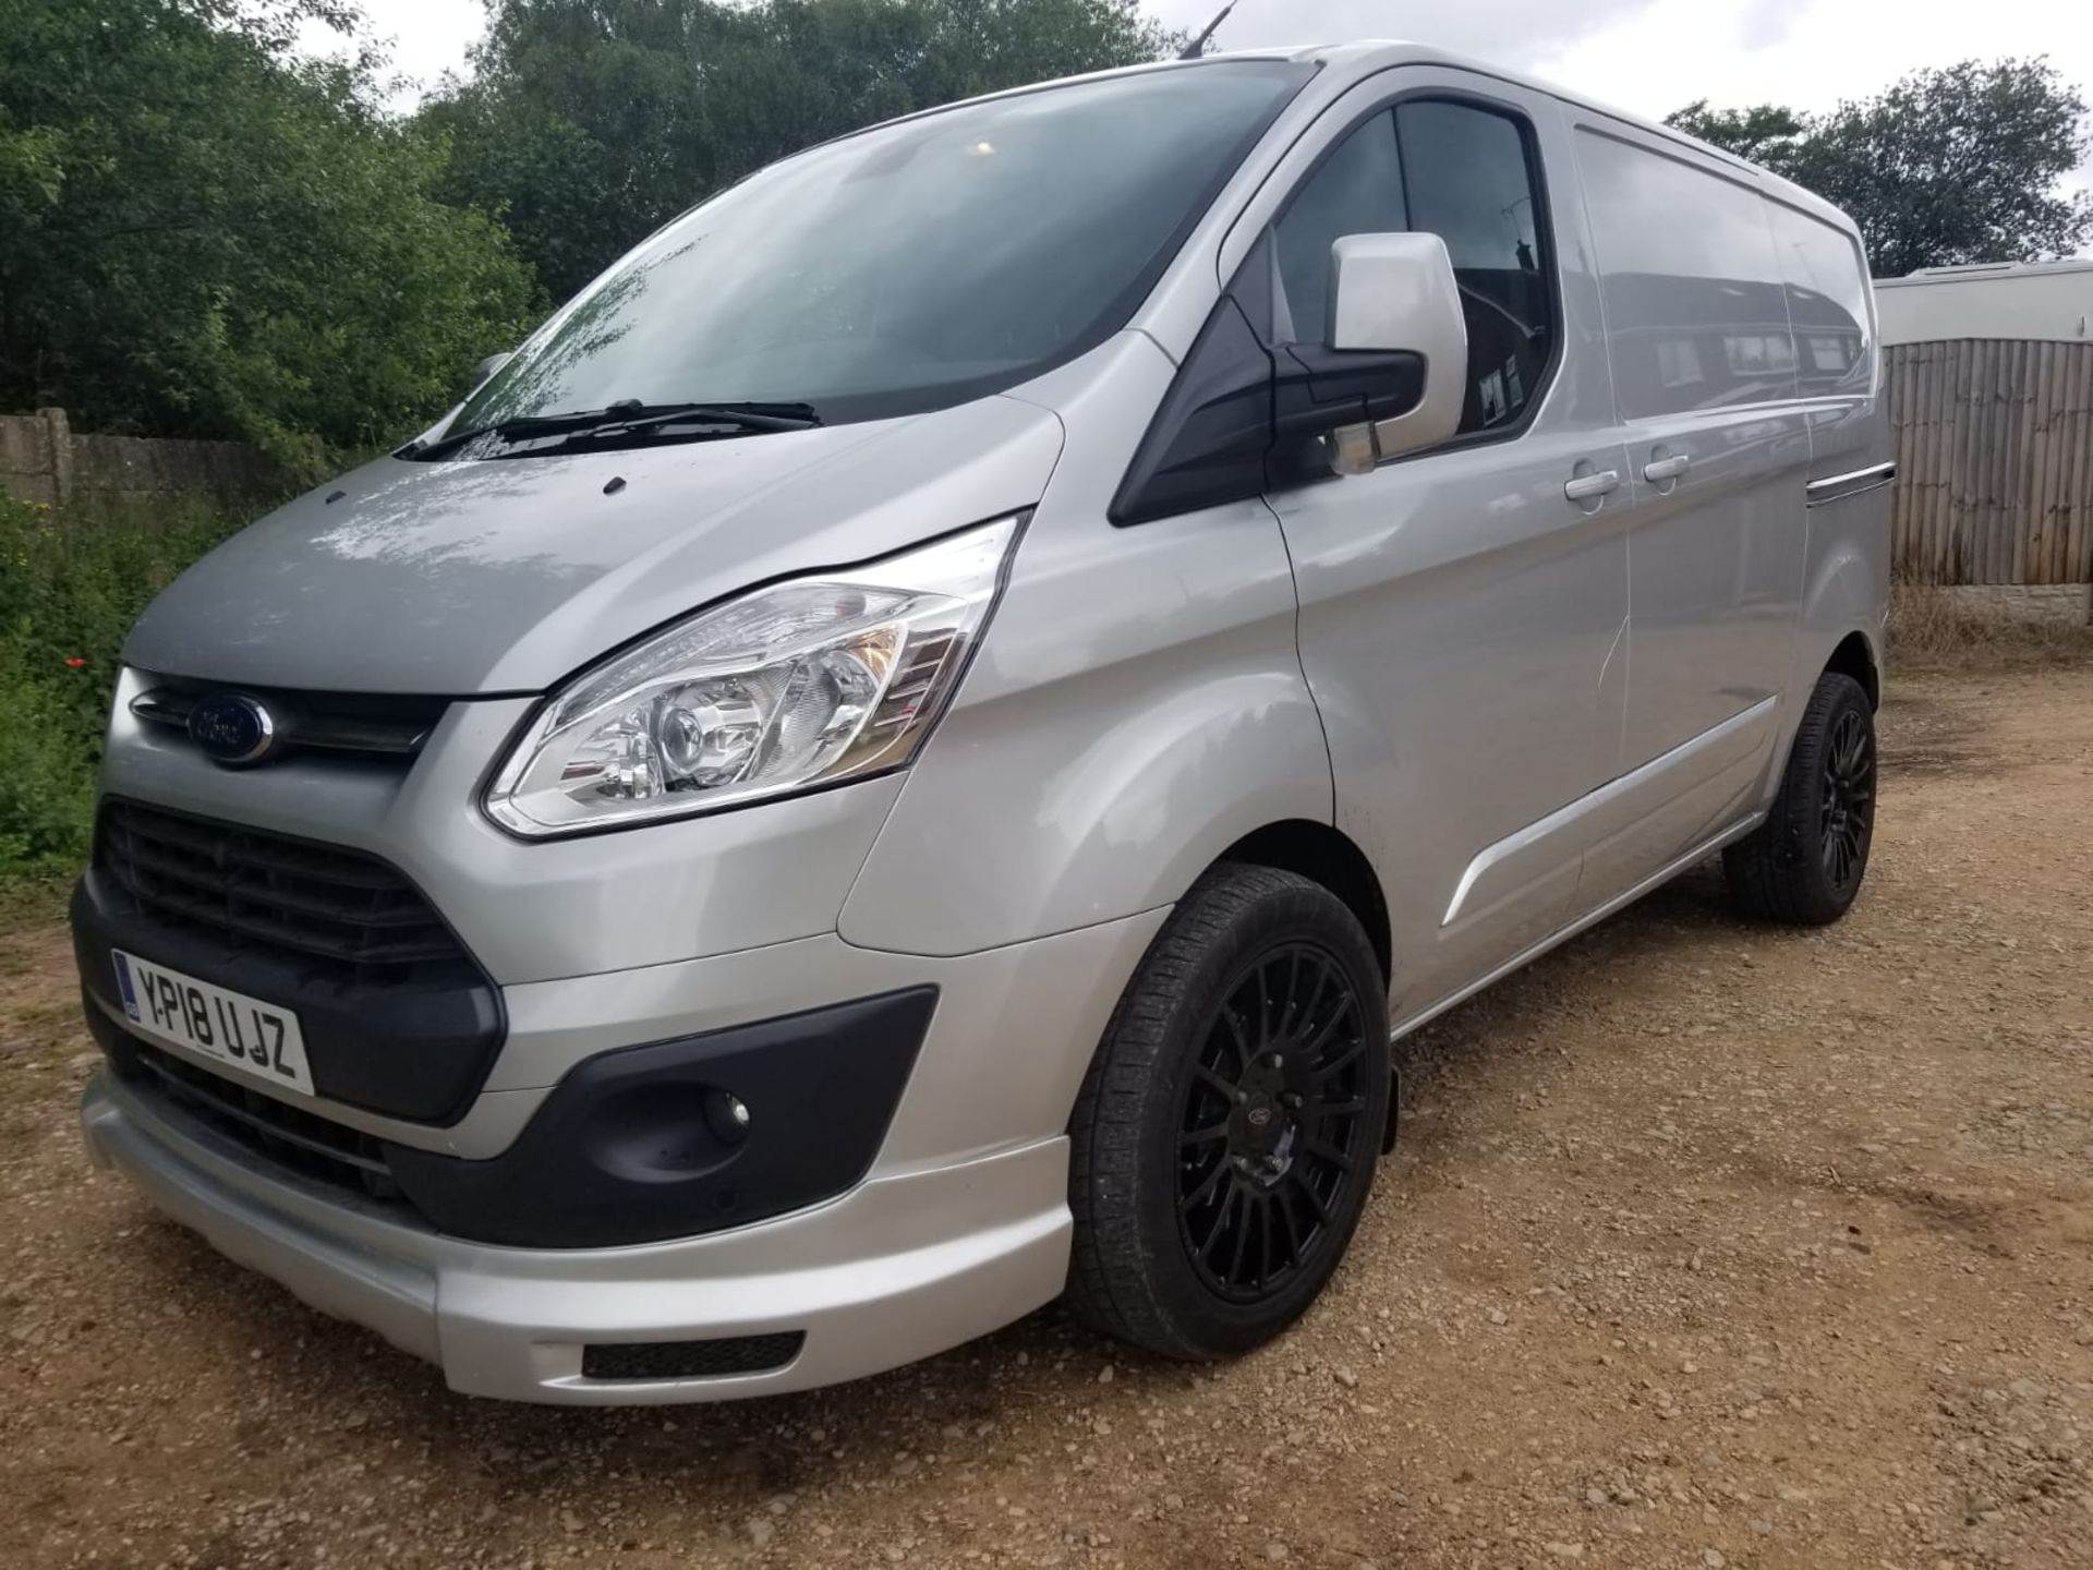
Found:
M 2093 343 L 1953 339 L 1882 358 L 1898 574 L 2093 582 Z

